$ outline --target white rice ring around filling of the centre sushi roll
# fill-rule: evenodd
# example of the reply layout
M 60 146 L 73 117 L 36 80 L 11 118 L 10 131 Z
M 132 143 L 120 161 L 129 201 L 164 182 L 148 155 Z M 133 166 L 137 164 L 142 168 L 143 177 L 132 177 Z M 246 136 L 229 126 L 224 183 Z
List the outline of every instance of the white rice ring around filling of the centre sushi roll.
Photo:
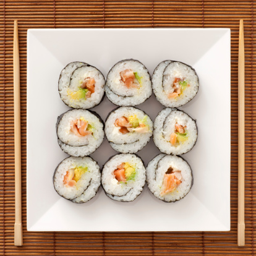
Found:
M 148 132 L 139 133 L 134 131 L 128 132 L 127 134 L 122 134 L 119 131 L 120 127 L 116 127 L 114 125 L 116 119 L 119 119 L 122 116 L 128 119 L 129 116 L 135 115 L 140 120 L 147 116 Z M 105 123 L 105 134 L 111 147 L 113 147 L 114 150 L 122 153 L 136 153 L 137 151 L 141 150 L 149 142 L 152 131 L 153 122 L 151 121 L 150 117 L 142 110 L 133 107 L 117 108 L 111 114 L 109 114 Z

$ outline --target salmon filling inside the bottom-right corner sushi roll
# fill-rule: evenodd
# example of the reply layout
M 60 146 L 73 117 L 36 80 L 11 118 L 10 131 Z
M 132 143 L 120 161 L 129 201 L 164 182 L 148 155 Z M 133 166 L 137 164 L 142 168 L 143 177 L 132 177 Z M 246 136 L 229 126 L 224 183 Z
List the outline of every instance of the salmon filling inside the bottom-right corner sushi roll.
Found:
M 160 195 L 166 195 L 173 192 L 181 184 L 181 171 L 173 171 L 172 167 L 169 167 L 163 178 L 163 185 L 161 186 Z

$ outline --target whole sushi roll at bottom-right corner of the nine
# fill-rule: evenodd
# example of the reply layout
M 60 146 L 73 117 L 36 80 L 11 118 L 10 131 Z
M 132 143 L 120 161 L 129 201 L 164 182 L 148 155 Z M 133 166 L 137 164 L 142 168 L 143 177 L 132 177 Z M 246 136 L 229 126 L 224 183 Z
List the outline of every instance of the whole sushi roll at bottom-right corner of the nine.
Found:
M 180 156 L 157 155 L 147 166 L 148 189 L 164 202 L 184 198 L 193 185 L 189 164 Z

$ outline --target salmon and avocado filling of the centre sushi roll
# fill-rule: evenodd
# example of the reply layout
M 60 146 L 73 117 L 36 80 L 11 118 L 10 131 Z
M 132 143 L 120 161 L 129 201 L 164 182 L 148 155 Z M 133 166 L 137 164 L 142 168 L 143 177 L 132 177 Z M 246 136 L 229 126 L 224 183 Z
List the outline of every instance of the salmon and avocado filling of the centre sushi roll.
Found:
M 114 126 L 119 127 L 119 132 L 121 134 L 127 134 L 128 132 L 139 132 L 140 134 L 145 134 L 149 132 L 148 126 L 144 123 L 146 122 L 147 116 L 142 120 L 139 120 L 137 116 L 129 116 L 128 119 L 125 116 L 116 119 Z

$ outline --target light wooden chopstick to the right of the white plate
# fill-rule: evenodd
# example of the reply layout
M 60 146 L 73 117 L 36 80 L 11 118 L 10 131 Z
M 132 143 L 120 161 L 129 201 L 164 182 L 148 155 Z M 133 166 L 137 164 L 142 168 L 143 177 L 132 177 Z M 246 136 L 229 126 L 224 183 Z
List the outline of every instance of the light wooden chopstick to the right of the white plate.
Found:
M 237 245 L 245 245 L 244 225 L 244 21 L 240 20 L 238 53 L 238 220 Z

